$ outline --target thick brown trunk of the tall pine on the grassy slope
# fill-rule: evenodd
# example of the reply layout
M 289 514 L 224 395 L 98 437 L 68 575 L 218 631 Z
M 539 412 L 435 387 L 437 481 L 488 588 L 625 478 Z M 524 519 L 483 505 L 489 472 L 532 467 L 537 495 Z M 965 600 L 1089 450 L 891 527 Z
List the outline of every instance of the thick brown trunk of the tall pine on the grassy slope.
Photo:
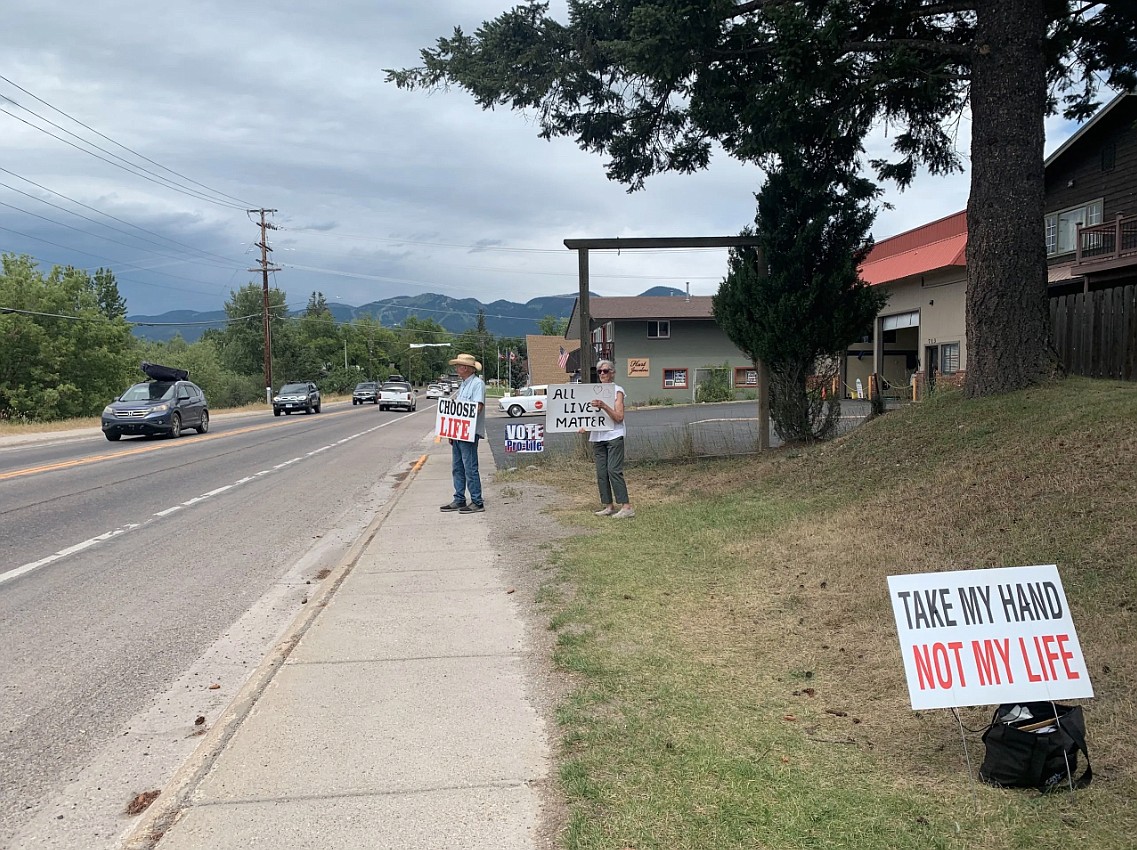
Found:
M 1044 0 L 977 5 L 966 253 L 965 391 L 972 398 L 1021 390 L 1052 373 L 1043 7 Z

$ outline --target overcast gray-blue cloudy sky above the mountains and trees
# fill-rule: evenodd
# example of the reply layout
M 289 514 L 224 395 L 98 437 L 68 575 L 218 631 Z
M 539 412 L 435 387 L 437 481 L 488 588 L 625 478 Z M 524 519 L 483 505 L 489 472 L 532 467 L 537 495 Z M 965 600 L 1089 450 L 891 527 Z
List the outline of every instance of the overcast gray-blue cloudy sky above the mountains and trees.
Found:
M 7 0 L 0 251 L 44 270 L 109 267 L 132 315 L 219 309 L 260 282 L 246 210 L 265 207 L 280 227 L 272 283 L 294 307 L 313 291 L 349 305 L 528 301 L 575 291 L 565 239 L 732 235 L 753 222 L 762 174 L 724 155 L 628 194 L 604 158 L 539 140 L 531 116 L 384 82 L 383 68 L 417 65 L 438 36 L 511 5 Z M 1047 152 L 1072 130 L 1051 120 Z M 966 151 L 966 119 L 958 133 Z M 885 145 L 881 132 L 870 156 Z M 966 195 L 966 174 L 921 176 L 887 192 L 894 209 L 873 235 L 955 213 Z M 603 295 L 713 294 L 725 255 L 592 252 L 590 270 Z

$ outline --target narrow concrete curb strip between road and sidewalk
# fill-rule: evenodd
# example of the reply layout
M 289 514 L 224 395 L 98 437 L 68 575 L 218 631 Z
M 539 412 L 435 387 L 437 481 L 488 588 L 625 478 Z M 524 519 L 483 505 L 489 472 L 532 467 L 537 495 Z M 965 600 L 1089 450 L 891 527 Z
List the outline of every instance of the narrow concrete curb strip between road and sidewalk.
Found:
M 257 669 L 252 672 L 186 763 L 174 773 L 159 797 L 147 808 L 144 814 L 139 816 L 138 822 L 123 834 L 119 844 L 122 850 L 152 850 L 163 835 L 177 822 L 186 802 L 209 773 L 215 759 L 224 751 L 300 639 L 315 623 L 343 581 L 351 574 L 360 556 L 406 493 L 428 457 L 429 455 L 424 453 L 412 465 L 406 477 L 396 485 L 391 498 L 376 511 L 374 519 L 351 544 L 341 564 L 308 598 L 308 605 L 296 615 L 281 641 L 269 650 Z

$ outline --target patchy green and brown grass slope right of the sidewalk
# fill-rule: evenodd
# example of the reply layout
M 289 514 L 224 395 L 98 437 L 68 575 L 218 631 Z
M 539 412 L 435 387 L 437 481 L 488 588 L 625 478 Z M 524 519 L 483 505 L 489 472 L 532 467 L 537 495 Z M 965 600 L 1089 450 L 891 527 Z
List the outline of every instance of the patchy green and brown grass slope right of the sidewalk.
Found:
M 565 847 L 1132 847 L 1137 385 L 944 392 L 790 453 L 632 465 L 626 523 L 591 516 L 587 463 L 536 473 L 595 532 L 561 544 L 571 592 L 542 594 L 578 682 Z M 908 707 L 886 576 L 1051 562 L 1097 693 L 1097 778 L 976 785 L 952 715 Z

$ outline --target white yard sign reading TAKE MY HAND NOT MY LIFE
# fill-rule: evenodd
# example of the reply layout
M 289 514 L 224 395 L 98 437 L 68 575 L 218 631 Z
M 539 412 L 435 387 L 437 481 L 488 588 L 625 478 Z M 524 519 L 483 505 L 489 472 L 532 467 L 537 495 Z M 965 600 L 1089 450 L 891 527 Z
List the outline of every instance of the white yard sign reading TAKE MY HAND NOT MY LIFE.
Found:
M 1054 565 L 888 577 L 912 708 L 1093 697 Z

